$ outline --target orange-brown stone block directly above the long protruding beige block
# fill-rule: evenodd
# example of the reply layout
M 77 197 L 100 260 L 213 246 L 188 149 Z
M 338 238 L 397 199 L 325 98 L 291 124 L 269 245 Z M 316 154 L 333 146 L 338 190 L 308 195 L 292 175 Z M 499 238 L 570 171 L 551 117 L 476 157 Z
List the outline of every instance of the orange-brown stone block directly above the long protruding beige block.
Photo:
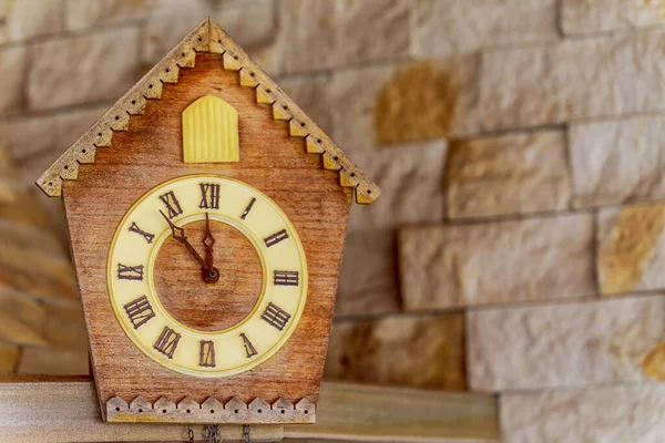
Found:
M 447 175 L 449 216 L 565 209 L 571 197 L 565 150 L 562 131 L 452 143 Z

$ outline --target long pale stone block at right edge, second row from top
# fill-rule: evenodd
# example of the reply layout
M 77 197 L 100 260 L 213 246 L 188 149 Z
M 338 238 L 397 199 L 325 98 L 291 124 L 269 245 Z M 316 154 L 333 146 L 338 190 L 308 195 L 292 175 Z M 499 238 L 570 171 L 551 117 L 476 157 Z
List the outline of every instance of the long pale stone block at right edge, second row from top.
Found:
M 484 130 L 552 125 L 664 107 L 665 32 L 483 53 Z

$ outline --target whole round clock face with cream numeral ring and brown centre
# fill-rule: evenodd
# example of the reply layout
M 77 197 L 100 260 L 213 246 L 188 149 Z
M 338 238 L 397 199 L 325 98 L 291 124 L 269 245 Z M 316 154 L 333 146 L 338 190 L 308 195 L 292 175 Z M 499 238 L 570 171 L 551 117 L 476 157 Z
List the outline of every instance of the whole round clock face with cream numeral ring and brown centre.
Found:
M 184 176 L 143 195 L 108 260 L 111 303 L 132 342 L 174 371 L 225 377 L 277 352 L 307 298 L 307 262 L 284 212 L 258 189 Z

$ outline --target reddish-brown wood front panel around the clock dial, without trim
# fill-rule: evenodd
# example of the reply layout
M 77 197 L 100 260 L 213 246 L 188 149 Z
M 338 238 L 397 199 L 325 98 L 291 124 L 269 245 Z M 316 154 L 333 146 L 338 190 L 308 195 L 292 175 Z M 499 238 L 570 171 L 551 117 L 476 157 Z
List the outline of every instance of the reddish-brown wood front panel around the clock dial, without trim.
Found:
M 146 100 L 129 131 L 115 132 L 110 147 L 96 150 L 94 164 L 80 165 L 78 179 L 63 184 L 102 403 L 114 395 L 127 402 L 137 395 L 176 403 L 187 395 L 200 403 L 235 395 L 247 403 L 255 398 L 317 401 L 352 188 L 339 186 L 336 171 L 321 169 L 320 158 L 307 154 L 303 140 L 289 135 L 287 122 L 273 119 L 269 105 L 257 104 L 255 93 L 223 69 L 222 55 L 198 53 L 193 69 L 181 69 L 177 83 L 162 86 L 161 100 Z M 239 163 L 182 162 L 181 113 L 207 94 L 238 111 Z M 105 277 L 113 233 L 130 206 L 160 183 L 201 173 L 241 179 L 275 200 L 296 226 L 309 266 L 305 312 L 287 344 L 260 367 L 218 379 L 175 373 L 137 350 L 113 315 Z

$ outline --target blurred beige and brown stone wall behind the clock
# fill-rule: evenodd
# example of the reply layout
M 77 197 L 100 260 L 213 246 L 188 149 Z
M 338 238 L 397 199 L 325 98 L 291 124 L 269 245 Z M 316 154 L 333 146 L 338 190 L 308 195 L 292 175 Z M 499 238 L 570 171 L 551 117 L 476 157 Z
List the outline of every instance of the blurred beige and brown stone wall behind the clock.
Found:
M 206 16 L 383 188 L 352 209 L 328 380 L 497 392 L 514 441 L 665 432 L 662 1 L 0 0 L 0 216 L 47 205 L 20 223 L 55 276 L 61 203 L 22 193 Z M 10 237 L 2 370 L 86 371 L 75 288 L 10 268 Z

